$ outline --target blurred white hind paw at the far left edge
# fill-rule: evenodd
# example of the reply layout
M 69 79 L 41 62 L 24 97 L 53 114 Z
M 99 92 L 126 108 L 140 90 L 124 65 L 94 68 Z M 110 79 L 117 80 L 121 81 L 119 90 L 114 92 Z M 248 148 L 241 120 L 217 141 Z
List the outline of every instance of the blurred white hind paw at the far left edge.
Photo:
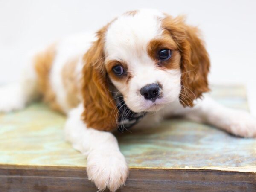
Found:
M 0 112 L 6 113 L 24 108 L 25 98 L 21 93 L 21 87 L 16 84 L 1 86 Z

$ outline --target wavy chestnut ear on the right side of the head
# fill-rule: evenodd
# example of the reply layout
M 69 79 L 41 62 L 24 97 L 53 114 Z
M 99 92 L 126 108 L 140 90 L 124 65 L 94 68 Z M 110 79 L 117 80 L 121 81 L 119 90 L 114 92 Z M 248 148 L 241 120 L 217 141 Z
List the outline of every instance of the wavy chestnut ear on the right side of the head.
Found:
M 207 75 L 210 61 L 196 27 L 186 25 L 183 17 L 163 19 L 163 27 L 176 41 L 181 53 L 180 103 L 192 107 L 193 100 L 209 91 Z

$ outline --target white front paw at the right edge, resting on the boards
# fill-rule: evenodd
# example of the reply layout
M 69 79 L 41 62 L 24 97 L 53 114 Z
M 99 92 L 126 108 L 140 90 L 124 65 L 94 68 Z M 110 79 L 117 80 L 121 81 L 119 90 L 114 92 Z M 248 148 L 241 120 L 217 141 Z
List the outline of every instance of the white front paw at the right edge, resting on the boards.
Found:
M 234 111 L 227 130 L 241 137 L 256 137 L 256 118 L 244 111 Z

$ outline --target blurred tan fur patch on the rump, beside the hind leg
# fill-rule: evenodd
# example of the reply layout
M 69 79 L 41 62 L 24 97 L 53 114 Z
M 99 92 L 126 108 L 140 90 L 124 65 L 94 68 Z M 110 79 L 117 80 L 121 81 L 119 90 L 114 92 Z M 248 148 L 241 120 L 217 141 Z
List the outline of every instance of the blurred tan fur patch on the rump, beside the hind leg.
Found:
M 56 102 L 55 93 L 49 83 L 49 73 L 55 58 L 55 44 L 49 46 L 45 51 L 39 52 L 34 57 L 35 72 L 37 74 L 38 89 L 43 96 L 44 102 L 59 112 L 63 112 Z

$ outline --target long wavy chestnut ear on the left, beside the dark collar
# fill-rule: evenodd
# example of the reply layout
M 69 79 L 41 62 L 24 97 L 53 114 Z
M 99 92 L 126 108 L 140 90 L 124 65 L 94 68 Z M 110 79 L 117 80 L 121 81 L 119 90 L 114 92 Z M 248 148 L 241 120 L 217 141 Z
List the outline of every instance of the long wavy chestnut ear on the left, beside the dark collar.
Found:
M 84 112 L 82 118 L 87 127 L 102 131 L 116 128 L 116 103 L 109 91 L 110 81 L 105 69 L 105 28 L 97 32 L 98 40 L 84 55 L 82 96 Z

